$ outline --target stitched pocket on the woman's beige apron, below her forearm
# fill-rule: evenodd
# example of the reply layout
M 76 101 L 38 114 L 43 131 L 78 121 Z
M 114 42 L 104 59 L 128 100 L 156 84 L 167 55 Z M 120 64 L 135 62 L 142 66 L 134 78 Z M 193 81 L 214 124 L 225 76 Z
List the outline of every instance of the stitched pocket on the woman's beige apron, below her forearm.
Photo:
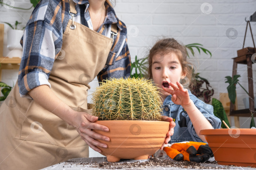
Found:
M 34 100 L 27 109 L 26 118 L 21 127 L 20 139 L 61 147 L 87 145 L 74 127 L 38 105 Z

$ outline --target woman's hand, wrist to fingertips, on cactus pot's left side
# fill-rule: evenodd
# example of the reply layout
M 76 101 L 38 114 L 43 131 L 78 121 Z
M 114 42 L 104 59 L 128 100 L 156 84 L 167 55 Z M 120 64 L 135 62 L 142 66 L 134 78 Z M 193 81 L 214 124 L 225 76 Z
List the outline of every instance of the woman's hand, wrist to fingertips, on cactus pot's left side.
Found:
M 70 125 L 76 128 L 76 131 L 80 134 L 81 138 L 97 152 L 101 153 L 101 150 L 98 147 L 107 148 L 107 144 L 101 143 L 95 139 L 101 139 L 104 141 L 110 141 L 110 139 L 107 136 L 92 131 L 92 129 L 102 130 L 105 132 L 109 131 L 106 126 L 94 123 L 98 120 L 98 117 L 92 116 L 86 112 L 76 112 L 74 115 L 75 116 L 72 121 L 73 125 L 71 123 Z

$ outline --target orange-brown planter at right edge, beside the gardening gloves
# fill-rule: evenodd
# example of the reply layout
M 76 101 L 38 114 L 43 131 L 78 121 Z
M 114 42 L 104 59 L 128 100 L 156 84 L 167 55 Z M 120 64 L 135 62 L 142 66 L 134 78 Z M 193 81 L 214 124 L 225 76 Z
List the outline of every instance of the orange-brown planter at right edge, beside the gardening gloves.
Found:
M 256 167 L 256 129 L 205 129 L 200 134 L 218 164 Z

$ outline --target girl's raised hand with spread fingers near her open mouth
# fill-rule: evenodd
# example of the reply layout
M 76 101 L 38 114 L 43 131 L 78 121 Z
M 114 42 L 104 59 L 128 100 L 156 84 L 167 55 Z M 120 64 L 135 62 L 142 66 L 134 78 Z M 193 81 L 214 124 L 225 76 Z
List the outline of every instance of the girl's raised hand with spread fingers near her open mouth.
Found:
M 177 85 L 176 85 L 177 84 Z M 189 105 L 191 100 L 189 97 L 189 93 L 187 89 L 184 89 L 180 82 L 176 82 L 176 84 L 170 82 L 169 85 L 173 88 L 163 88 L 166 92 L 172 95 L 172 101 L 176 105 L 186 106 Z

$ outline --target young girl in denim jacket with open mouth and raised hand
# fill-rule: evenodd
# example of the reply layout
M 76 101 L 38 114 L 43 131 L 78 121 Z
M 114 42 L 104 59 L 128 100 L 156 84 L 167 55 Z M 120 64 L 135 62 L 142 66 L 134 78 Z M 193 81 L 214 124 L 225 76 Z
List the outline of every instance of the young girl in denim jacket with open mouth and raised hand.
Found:
M 186 61 L 186 48 L 174 38 L 159 40 L 149 52 L 149 79 L 160 88 L 164 116 L 176 123 L 169 143 L 206 142 L 202 129 L 220 128 L 213 107 L 184 89 L 180 81 L 191 82 L 192 70 Z

